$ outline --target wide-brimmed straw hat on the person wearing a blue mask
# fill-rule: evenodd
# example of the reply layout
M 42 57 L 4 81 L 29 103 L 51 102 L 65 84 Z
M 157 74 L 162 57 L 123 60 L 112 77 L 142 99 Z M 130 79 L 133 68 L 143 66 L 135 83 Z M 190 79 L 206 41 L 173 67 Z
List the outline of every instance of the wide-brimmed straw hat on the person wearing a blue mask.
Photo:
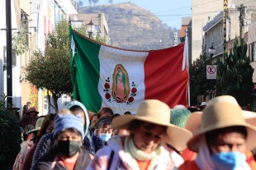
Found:
M 247 149 L 254 149 L 256 147 L 256 127 L 248 123 L 256 120 L 253 114 L 255 113 L 242 111 L 232 96 L 225 95 L 211 99 L 202 113 L 192 113 L 187 119 L 185 128 L 194 134 L 194 137 L 187 143 L 188 148 L 197 152 L 199 137 L 208 131 L 229 126 L 245 126 L 248 132 Z

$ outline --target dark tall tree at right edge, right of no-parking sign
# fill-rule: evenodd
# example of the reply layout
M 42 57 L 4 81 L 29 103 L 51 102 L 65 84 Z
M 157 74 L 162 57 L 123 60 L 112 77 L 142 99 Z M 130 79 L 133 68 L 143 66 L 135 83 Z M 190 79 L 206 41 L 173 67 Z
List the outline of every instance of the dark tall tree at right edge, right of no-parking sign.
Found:
M 232 95 L 240 106 L 249 103 L 254 87 L 254 68 L 246 56 L 247 44 L 240 45 L 235 38 L 234 48 L 230 54 L 224 54 L 224 62 L 218 59 L 216 88 L 219 95 Z

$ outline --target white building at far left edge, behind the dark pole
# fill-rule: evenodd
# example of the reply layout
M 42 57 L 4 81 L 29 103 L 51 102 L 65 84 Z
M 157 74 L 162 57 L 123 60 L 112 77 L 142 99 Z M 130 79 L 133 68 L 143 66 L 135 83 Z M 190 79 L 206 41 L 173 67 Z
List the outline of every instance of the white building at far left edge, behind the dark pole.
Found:
M 12 17 L 12 36 L 16 37 L 19 34 L 21 27 L 26 27 L 24 18 L 30 14 L 30 1 L 11 0 L 11 17 Z M 6 4 L 5 1 L 0 1 L 0 95 L 7 94 L 7 35 L 6 35 Z M 24 42 L 27 44 L 27 41 Z M 20 75 L 21 75 L 21 55 L 17 55 L 12 51 L 12 103 L 17 108 L 21 108 L 21 89 L 20 89 Z

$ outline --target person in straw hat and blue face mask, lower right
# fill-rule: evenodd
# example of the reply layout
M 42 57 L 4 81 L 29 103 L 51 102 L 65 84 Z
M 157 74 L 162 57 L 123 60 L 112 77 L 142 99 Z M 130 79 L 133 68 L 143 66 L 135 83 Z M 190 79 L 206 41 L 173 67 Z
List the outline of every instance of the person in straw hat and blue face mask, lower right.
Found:
M 256 147 L 256 127 L 245 122 L 235 98 L 211 99 L 202 113 L 192 113 L 191 117 L 197 118 L 190 125 L 186 123 L 194 134 L 187 147 L 197 152 L 197 158 L 183 163 L 180 170 L 256 169 L 255 161 L 246 154 Z

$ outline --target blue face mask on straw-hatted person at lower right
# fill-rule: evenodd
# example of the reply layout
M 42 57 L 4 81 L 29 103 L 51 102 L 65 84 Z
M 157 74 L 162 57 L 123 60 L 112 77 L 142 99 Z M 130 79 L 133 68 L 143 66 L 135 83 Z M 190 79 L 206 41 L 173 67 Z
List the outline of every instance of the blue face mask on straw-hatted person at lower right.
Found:
M 216 165 L 216 168 L 221 170 L 242 168 L 245 159 L 245 155 L 239 152 L 220 152 L 211 156 L 211 160 Z

